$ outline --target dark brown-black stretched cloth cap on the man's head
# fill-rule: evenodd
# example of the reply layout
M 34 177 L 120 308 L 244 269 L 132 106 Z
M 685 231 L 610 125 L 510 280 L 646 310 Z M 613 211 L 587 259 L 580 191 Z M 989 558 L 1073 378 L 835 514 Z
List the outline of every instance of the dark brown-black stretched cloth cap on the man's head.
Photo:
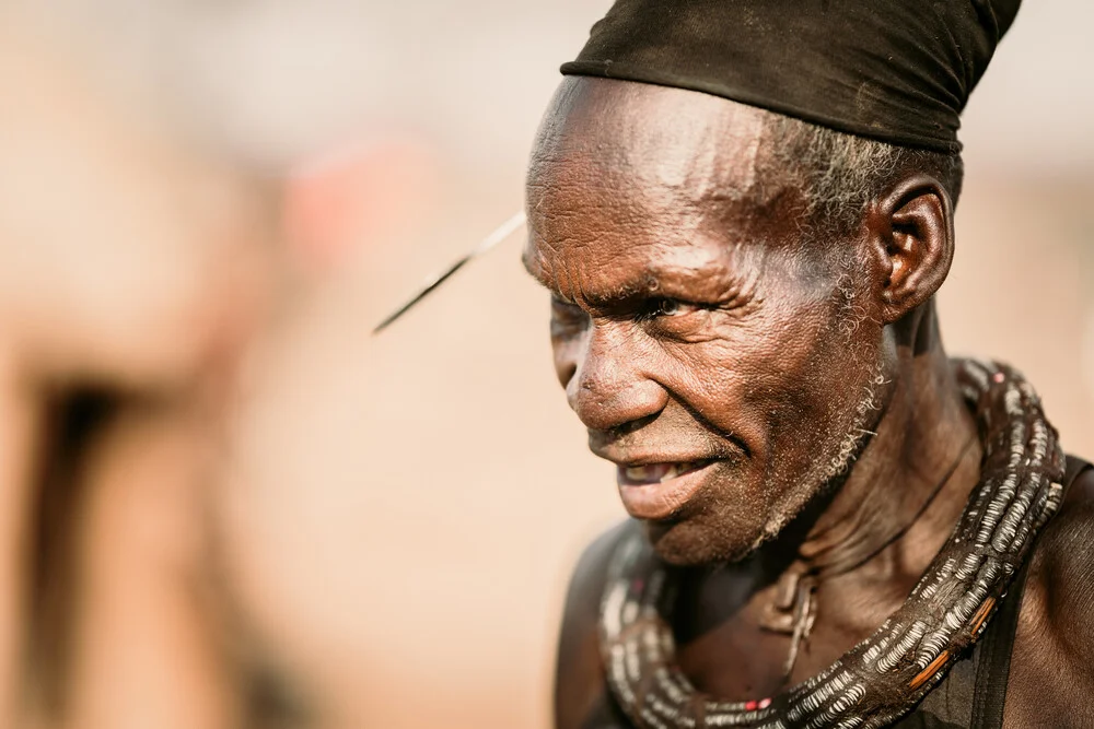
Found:
M 1021 0 L 617 0 L 568 75 L 724 96 L 959 152 L 958 118 Z

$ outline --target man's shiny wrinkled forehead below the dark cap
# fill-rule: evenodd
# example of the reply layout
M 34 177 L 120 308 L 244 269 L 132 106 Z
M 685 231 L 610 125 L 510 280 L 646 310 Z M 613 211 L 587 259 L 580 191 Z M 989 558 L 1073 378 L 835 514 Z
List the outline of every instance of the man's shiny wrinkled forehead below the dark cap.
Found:
M 771 118 L 699 92 L 567 79 L 532 154 L 525 258 L 777 238 L 801 196 L 771 154 Z

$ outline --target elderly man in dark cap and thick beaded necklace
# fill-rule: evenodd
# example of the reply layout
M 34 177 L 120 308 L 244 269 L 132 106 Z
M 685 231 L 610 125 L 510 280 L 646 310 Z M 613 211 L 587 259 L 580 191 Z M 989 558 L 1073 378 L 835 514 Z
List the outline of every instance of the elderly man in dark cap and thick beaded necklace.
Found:
M 1094 472 L 934 305 L 1016 5 L 618 0 L 563 66 L 524 259 L 632 519 L 558 727 L 1094 726 Z

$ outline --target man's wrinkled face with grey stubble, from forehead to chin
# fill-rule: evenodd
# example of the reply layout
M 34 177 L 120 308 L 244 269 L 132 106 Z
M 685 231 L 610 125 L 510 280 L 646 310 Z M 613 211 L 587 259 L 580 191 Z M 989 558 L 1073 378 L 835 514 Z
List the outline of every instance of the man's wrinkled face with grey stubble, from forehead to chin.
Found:
M 777 533 L 884 399 L 860 243 L 806 240 L 763 120 L 570 79 L 528 173 L 525 264 L 552 294 L 559 380 L 590 448 L 618 465 L 627 512 L 678 564 L 737 560 Z

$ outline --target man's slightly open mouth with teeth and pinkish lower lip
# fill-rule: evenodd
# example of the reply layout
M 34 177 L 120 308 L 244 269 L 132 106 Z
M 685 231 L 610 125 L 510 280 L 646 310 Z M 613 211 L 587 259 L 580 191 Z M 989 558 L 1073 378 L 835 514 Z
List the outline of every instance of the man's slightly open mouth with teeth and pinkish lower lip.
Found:
M 676 515 L 699 492 L 713 459 L 619 465 L 617 482 L 624 508 L 636 519 L 664 520 Z

